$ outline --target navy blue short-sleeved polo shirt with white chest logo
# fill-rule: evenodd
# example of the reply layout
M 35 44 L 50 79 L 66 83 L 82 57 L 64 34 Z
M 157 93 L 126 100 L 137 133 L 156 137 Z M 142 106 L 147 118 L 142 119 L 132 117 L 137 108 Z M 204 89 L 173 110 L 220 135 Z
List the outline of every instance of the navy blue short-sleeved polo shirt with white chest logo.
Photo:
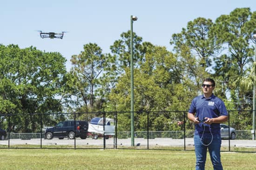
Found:
M 224 102 L 220 98 L 214 96 L 214 94 L 207 99 L 204 95 L 195 97 L 190 105 L 189 113 L 195 113 L 195 117 L 199 117 L 199 119 L 203 119 L 205 117 L 217 118 L 219 116 L 228 116 Z M 220 134 L 220 129 L 220 124 L 213 123 L 210 125 L 212 134 Z M 202 133 L 203 130 L 205 133 L 210 133 L 209 124 L 195 124 L 195 134 Z

